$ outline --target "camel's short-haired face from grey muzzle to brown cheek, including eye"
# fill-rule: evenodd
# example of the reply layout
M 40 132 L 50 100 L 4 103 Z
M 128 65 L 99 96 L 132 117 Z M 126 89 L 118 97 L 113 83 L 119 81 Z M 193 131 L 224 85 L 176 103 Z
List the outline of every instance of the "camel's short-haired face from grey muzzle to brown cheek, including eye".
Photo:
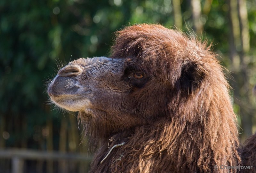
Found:
M 109 117 L 126 116 L 138 124 L 145 122 L 143 117 L 163 112 L 159 108 L 164 105 L 164 87 L 156 80 L 128 59 L 80 58 L 59 70 L 48 93 L 56 105 L 69 111 L 106 122 Z

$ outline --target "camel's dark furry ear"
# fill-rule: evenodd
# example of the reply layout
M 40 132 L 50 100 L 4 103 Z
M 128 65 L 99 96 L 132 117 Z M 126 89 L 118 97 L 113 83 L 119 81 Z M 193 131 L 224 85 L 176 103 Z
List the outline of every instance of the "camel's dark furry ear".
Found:
M 180 75 L 180 88 L 191 93 L 200 88 L 208 71 L 202 62 L 189 61 L 182 64 Z

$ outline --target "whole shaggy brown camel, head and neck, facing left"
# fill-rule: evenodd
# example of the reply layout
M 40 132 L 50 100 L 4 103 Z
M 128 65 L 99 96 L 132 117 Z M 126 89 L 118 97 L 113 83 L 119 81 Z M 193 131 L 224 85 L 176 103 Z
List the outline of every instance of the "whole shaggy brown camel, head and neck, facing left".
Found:
M 85 133 L 99 143 L 91 172 L 239 172 L 220 169 L 241 165 L 237 122 L 222 67 L 205 43 L 161 25 L 135 25 L 117 32 L 111 58 L 73 61 L 48 89 L 54 103 L 79 111 Z M 76 73 L 72 80 L 65 70 Z M 132 72 L 145 80 L 134 82 Z M 72 91 L 60 91 L 61 83 Z M 70 83 L 90 91 L 85 108 L 58 100 L 59 92 L 75 95 Z M 255 139 L 245 146 L 244 165 L 255 164 Z

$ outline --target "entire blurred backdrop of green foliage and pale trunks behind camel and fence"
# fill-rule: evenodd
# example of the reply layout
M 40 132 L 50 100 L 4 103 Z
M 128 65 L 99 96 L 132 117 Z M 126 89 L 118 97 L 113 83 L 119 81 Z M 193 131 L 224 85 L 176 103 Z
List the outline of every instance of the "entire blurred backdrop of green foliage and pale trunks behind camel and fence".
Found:
M 49 105 L 58 64 L 108 56 L 113 33 L 136 23 L 176 26 L 208 38 L 231 85 L 243 142 L 256 131 L 255 0 L 1 0 L 0 149 L 87 153 L 76 113 Z M 11 162 L 0 159 L 0 173 Z M 88 163 L 26 161 L 25 172 L 86 172 Z

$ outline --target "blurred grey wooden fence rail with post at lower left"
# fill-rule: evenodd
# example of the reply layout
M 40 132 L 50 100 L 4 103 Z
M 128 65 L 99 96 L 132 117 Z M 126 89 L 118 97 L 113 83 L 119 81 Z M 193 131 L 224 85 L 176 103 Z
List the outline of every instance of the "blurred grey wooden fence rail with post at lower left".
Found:
M 72 160 L 90 162 L 92 155 L 28 149 L 0 149 L 0 158 L 12 160 L 12 173 L 22 173 L 24 160 Z

